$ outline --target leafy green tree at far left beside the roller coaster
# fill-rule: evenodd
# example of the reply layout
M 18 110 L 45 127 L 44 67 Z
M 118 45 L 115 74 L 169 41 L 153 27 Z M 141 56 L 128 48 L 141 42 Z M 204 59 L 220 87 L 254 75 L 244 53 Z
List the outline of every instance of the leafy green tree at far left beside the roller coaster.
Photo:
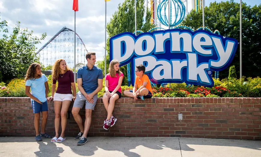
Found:
M 42 34 L 41 38 L 32 36 L 33 31 L 20 28 L 20 22 L 17 22 L 13 32 L 8 35 L 6 20 L 0 22 L 0 32 L 3 34 L 0 39 L 2 81 L 24 77 L 29 65 L 39 62 L 35 45 L 44 40 L 46 33 Z

